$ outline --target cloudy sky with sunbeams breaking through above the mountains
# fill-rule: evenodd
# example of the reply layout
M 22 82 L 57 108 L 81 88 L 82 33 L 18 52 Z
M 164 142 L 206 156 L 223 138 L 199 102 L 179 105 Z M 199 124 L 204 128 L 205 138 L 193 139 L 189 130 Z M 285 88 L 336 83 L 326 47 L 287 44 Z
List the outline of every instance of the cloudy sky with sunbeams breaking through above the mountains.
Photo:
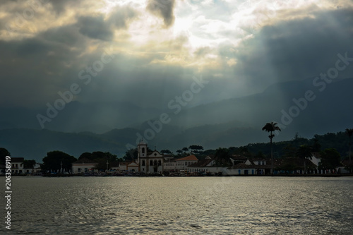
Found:
M 195 79 L 190 107 L 263 92 L 353 57 L 352 16 L 348 0 L 2 0 L 0 107 L 167 107 Z

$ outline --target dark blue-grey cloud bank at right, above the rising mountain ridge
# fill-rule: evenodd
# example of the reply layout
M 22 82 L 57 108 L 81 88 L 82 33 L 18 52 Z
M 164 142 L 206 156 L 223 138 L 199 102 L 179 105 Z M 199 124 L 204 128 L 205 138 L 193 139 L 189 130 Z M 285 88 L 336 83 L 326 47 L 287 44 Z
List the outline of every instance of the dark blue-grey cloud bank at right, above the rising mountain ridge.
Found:
M 335 66 L 338 53 L 348 52 L 353 57 L 353 10 L 313 14 L 314 17 L 268 25 L 254 33 L 251 40 L 234 49 L 233 56 L 238 61 L 234 75 L 261 90 L 278 81 L 325 73 Z M 352 67 L 340 76 L 352 76 Z

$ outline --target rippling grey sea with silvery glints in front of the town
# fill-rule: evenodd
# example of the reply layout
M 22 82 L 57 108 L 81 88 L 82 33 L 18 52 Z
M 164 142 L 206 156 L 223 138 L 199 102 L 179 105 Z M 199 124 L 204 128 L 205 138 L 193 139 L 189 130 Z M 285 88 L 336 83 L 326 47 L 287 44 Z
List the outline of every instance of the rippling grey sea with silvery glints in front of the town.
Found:
M 0 234 L 353 234 L 353 177 L 13 176 L 11 190 Z

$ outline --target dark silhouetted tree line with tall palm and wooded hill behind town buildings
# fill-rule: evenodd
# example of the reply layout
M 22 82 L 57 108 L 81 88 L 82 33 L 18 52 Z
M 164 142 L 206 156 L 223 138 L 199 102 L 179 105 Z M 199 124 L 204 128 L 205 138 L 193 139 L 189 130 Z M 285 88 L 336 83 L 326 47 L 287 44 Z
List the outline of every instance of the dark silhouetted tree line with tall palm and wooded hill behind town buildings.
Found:
M 294 135 L 292 140 L 273 142 L 275 131 L 280 131 L 277 123 L 266 123 L 263 131 L 270 133 L 270 143 L 250 143 L 240 147 L 219 147 L 217 149 L 204 150 L 201 145 L 190 145 L 189 147 L 181 147 L 179 150 L 172 152 L 171 150 L 161 150 L 164 155 L 172 157 L 185 157 L 187 155 L 196 155 L 198 159 L 204 159 L 208 155 L 213 155 L 216 162 L 220 166 L 229 166 L 232 164 L 229 157 L 232 155 L 242 155 L 249 158 L 269 158 L 273 163 L 273 159 L 289 159 L 289 158 L 311 158 L 312 152 L 319 152 L 321 155 L 321 169 L 335 169 L 340 165 L 342 160 L 349 161 L 349 169 L 352 169 L 351 147 L 353 129 L 347 128 L 345 132 L 326 133 L 325 135 L 314 135 L 311 139 L 301 138 L 298 133 Z M 152 150 L 148 149 L 149 152 Z M 6 155 L 11 155 L 4 147 L 0 147 L 0 162 L 4 164 Z M 109 166 L 119 164 L 119 162 L 129 162 L 137 159 L 137 148 L 126 151 L 125 155 L 118 158 L 110 152 L 83 152 L 78 159 L 90 159 L 97 162 L 97 169 L 107 169 Z M 55 150 L 47 152 L 47 156 L 42 159 L 41 165 L 44 171 L 60 171 L 62 169 L 69 171 L 76 157 L 68 155 L 66 152 Z M 25 159 L 23 167 L 32 169 L 36 164 L 34 159 Z M 108 166 L 108 167 L 109 167 Z M 273 166 L 271 167 L 273 170 Z

